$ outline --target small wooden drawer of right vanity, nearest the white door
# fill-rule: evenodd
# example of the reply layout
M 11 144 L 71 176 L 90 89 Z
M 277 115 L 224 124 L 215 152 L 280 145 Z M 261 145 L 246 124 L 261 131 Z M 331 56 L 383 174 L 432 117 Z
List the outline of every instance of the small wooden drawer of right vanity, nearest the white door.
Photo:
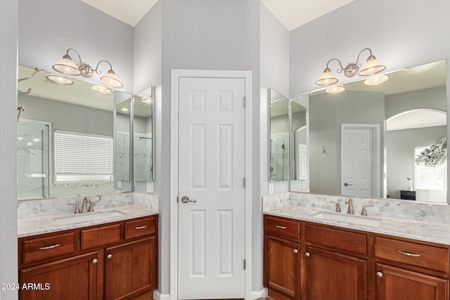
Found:
M 277 237 L 300 240 L 300 221 L 276 216 L 264 216 L 264 233 Z

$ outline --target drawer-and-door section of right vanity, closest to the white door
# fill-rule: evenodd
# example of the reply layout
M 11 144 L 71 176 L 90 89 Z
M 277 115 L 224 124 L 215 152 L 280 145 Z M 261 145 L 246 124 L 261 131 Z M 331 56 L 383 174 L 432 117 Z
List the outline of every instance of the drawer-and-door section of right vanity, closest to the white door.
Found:
M 264 285 L 274 299 L 300 299 L 300 221 L 264 216 Z

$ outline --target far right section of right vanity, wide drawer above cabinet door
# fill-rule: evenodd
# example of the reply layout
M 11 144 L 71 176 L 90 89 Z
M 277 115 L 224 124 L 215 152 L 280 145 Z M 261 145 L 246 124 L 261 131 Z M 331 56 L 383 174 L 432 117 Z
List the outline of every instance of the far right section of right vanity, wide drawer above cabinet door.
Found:
M 375 237 L 377 300 L 449 300 L 449 247 Z

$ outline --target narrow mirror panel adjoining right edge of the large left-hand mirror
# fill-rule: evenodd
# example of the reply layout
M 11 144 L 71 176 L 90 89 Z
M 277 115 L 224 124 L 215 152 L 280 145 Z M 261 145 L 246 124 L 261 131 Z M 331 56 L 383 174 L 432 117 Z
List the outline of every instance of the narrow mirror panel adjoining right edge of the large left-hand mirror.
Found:
M 115 171 L 114 185 L 117 190 L 132 190 L 131 178 L 131 95 L 115 91 Z

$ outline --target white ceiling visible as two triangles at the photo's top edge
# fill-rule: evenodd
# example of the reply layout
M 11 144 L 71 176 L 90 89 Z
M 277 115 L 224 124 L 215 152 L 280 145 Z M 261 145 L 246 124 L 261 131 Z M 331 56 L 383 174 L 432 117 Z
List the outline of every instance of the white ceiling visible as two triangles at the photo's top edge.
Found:
M 114 18 L 135 26 L 158 0 L 81 0 Z M 224 1 L 224 0 L 223 0 Z M 260 0 L 289 31 L 354 0 Z

